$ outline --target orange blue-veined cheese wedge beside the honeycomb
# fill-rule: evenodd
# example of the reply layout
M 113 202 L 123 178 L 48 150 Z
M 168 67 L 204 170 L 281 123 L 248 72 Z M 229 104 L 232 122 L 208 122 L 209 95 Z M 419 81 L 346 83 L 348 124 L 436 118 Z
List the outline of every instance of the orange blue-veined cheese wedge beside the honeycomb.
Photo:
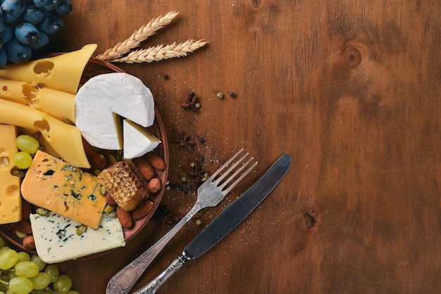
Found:
M 37 151 L 21 185 L 23 198 L 97 229 L 106 198 L 97 177 Z

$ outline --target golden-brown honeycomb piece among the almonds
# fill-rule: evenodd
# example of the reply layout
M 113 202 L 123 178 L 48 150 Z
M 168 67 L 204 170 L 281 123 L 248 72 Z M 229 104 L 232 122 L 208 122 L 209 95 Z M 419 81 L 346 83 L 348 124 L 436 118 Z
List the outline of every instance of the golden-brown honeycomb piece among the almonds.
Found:
M 116 162 L 103 170 L 98 180 L 123 210 L 132 211 L 149 197 L 148 182 L 132 161 Z

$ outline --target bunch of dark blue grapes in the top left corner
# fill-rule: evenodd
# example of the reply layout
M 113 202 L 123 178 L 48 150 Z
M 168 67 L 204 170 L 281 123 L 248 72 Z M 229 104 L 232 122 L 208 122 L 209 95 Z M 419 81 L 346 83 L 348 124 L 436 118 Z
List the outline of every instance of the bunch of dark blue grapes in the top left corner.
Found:
M 32 50 L 49 44 L 72 11 L 70 0 L 0 0 L 0 69 L 30 60 Z

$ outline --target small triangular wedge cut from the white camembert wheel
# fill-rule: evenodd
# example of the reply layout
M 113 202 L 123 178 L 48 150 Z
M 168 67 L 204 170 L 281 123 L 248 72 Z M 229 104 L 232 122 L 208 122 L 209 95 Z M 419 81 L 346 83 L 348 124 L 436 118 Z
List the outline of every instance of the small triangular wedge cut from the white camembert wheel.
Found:
M 139 158 L 147 152 L 152 151 L 161 143 L 147 129 L 135 124 L 131 120 L 123 121 L 124 132 L 124 158 Z

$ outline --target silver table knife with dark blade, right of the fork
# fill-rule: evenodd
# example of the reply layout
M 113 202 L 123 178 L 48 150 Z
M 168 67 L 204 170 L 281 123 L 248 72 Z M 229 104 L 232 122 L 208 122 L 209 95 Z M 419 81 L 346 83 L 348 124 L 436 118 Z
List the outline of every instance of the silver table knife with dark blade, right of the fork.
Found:
M 156 293 L 170 276 L 173 276 L 185 262 L 206 253 L 240 224 L 285 177 L 291 166 L 290 155 L 284 154 L 269 170 L 242 196 L 226 207 L 190 244 L 176 257 L 161 274 L 140 288 L 135 294 Z

